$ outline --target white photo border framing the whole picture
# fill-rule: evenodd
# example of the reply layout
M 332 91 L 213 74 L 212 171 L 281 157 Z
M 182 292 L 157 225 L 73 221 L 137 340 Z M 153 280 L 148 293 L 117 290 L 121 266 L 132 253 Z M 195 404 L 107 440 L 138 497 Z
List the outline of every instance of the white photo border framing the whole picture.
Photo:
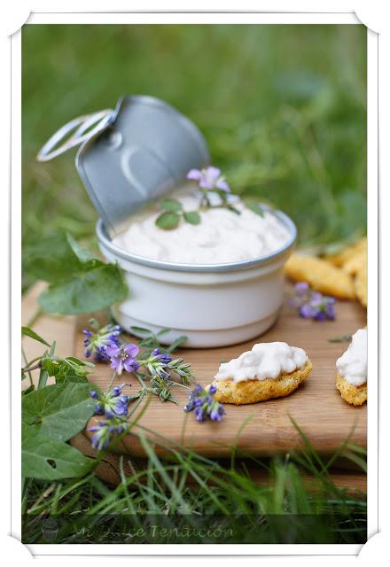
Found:
M 361 24 L 355 13 L 222 12 L 32 12 L 35 24 Z M 369 233 L 369 369 L 378 376 L 378 35 L 367 30 L 368 49 L 368 233 Z M 12 376 L 20 371 L 21 250 L 21 32 L 12 35 Z M 17 324 L 18 323 L 18 324 Z M 368 538 L 378 532 L 378 384 L 368 383 Z M 21 540 L 20 384 L 12 380 L 12 536 Z M 271 544 L 35 544 L 33 555 L 357 555 L 362 545 Z

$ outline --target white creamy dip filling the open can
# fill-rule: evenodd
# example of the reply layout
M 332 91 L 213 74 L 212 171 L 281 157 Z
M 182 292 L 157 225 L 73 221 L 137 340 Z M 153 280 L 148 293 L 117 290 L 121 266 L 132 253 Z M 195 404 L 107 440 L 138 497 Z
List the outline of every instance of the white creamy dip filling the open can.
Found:
M 184 211 L 198 209 L 199 198 L 179 198 Z M 253 213 L 239 199 L 235 214 L 226 208 L 200 212 L 201 221 L 193 225 L 181 221 L 176 229 L 156 226 L 160 212 L 144 211 L 135 215 L 129 228 L 113 238 L 122 250 L 144 258 L 185 264 L 222 264 L 254 260 L 276 252 L 290 239 L 288 229 L 269 212 Z

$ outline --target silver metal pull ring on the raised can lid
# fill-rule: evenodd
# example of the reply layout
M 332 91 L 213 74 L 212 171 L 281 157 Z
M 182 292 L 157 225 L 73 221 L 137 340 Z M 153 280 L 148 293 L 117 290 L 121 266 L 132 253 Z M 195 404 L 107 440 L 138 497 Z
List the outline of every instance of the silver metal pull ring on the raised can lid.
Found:
M 106 109 L 98 113 L 84 114 L 83 116 L 74 118 L 74 120 L 70 120 L 70 122 L 67 122 L 62 128 L 59 128 L 59 130 L 49 138 L 39 151 L 36 159 L 38 161 L 49 161 L 50 159 L 56 158 L 61 153 L 65 153 L 65 151 L 74 148 L 74 146 L 82 144 L 84 140 L 95 136 L 100 130 L 104 130 L 107 124 L 113 119 L 113 114 L 113 110 Z M 91 128 L 94 124 L 95 126 Z M 87 132 L 87 130 L 89 131 Z M 71 132 L 73 132 L 73 134 L 66 138 Z M 58 145 L 61 141 L 62 144 Z

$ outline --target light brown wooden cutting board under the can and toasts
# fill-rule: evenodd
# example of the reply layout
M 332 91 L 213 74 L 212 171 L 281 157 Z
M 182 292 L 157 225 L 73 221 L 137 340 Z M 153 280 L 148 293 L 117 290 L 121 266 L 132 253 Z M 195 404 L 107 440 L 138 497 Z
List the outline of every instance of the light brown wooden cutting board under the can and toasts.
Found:
M 168 447 L 181 444 L 211 457 L 227 457 L 233 447 L 243 454 L 283 454 L 300 447 L 300 435 L 291 418 L 320 454 L 332 454 L 347 438 L 366 447 L 366 405 L 360 408 L 349 406 L 340 398 L 334 385 L 335 361 L 347 348 L 347 343 L 329 342 L 329 338 L 352 334 L 362 328 L 366 324 L 365 310 L 353 302 L 339 302 L 336 310 L 336 321 L 313 322 L 300 319 L 289 307 L 285 307 L 277 324 L 261 338 L 223 348 L 183 349 L 178 354 L 191 362 L 197 381 L 205 385 L 213 380 L 221 361 L 237 357 L 259 341 L 285 341 L 292 346 L 300 346 L 313 362 L 313 370 L 306 383 L 286 398 L 239 407 L 226 405 L 222 423 L 197 423 L 192 412 L 184 413 L 188 394 L 182 388 L 175 388 L 177 405 L 162 403 L 152 396 L 144 415 L 118 446 L 118 451 L 144 457 L 144 449 L 137 437 L 139 431 L 143 431 L 156 443 L 157 454 L 166 453 L 161 444 Z M 85 317 L 79 317 L 74 325 L 74 353 L 81 358 L 82 328 L 85 324 Z M 105 388 L 111 376 L 112 370 L 99 364 L 90 380 Z M 136 392 L 138 389 L 136 379 L 126 374 L 118 377 L 114 384 L 123 382 L 132 384 L 124 392 Z M 98 419 L 92 418 L 90 425 Z

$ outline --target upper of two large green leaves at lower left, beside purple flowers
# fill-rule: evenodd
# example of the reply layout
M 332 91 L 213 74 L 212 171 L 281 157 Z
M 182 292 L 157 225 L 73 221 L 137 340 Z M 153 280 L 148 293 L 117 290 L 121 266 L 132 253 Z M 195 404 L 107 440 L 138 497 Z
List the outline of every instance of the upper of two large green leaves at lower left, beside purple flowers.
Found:
M 67 441 L 93 416 L 90 384 L 54 384 L 22 398 L 22 420 L 43 438 Z

